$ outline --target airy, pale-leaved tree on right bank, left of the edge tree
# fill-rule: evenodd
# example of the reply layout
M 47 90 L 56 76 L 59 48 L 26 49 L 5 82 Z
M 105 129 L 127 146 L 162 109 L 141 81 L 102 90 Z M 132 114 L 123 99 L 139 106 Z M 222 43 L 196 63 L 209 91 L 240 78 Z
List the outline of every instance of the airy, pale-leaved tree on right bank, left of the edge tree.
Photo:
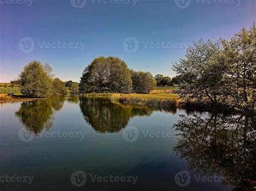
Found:
M 223 93 L 224 75 L 227 66 L 224 63 L 219 41 L 206 43 L 201 39 L 194 47 L 189 47 L 186 59 L 174 63 L 173 69 L 183 76 L 180 88 L 176 91 L 180 97 L 196 101 L 210 101 L 217 104 L 225 100 Z M 224 97 L 223 97 L 224 96 Z

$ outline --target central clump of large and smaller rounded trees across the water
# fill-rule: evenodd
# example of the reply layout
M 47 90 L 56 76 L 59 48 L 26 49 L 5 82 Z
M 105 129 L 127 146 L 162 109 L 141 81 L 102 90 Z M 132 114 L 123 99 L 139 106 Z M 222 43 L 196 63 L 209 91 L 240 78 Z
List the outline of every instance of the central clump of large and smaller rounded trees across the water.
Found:
M 113 56 L 93 60 L 80 79 L 81 93 L 149 93 L 156 86 L 151 73 L 131 70 Z

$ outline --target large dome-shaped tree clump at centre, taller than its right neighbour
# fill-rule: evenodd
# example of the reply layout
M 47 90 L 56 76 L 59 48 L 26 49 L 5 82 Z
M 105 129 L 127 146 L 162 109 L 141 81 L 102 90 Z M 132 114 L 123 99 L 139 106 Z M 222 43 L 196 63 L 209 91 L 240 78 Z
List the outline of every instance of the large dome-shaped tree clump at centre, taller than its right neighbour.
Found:
M 117 57 L 101 56 L 84 69 L 80 80 L 83 93 L 130 93 L 132 80 L 126 63 Z

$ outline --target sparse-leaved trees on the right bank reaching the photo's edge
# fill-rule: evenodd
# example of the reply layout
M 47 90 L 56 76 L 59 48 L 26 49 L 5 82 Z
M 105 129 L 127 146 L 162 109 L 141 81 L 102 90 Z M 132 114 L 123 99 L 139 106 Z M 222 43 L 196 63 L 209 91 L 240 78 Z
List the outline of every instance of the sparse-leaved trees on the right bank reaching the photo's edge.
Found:
M 255 107 L 255 24 L 230 40 L 201 39 L 173 64 L 180 76 L 176 93 L 187 101 L 225 105 L 238 110 Z

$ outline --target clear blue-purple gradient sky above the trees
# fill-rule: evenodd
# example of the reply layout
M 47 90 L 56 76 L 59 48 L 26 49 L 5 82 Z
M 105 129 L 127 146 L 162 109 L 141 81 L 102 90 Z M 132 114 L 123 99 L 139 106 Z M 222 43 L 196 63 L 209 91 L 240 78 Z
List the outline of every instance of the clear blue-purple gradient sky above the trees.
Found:
M 250 29 L 255 10 L 255 0 L 0 0 L 0 82 L 32 60 L 79 82 L 98 56 L 173 77 L 188 46 Z

